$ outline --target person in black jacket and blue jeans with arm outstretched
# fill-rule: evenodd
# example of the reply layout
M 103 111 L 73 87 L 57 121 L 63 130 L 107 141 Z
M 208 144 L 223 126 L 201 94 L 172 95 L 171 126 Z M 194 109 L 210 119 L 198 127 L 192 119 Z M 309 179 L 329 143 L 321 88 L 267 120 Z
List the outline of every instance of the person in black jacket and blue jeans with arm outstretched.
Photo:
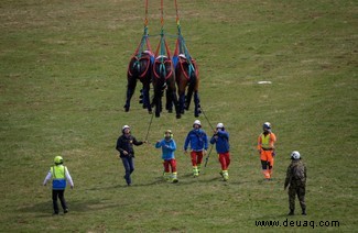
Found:
M 131 135 L 130 127 L 126 124 L 122 126 L 122 135 L 117 140 L 116 149 L 119 152 L 119 157 L 122 159 L 123 167 L 126 169 L 124 179 L 128 186 L 131 186 L 132 180 L 130 175 L 134 171 L 134 149 L 133 145 L 139 146 L 147 141 L 137 141 L 134 136 Z

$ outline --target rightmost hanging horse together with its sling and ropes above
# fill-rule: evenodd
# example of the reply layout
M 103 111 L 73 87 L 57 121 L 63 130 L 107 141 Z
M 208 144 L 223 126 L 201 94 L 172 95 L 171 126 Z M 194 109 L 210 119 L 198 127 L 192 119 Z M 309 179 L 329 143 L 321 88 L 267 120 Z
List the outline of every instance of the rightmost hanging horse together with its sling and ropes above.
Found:
M 184 110 L 189 109 L 192 97 L 194 95 L 194 115 L 197 118 L 200 113 L 198 68 L 195 59 L 191 56 L 182 35 L 176 0 L 175 8 L 177 40 L 173 55 L 173 63 L 175 67 L 180 112 L 183 114 Z

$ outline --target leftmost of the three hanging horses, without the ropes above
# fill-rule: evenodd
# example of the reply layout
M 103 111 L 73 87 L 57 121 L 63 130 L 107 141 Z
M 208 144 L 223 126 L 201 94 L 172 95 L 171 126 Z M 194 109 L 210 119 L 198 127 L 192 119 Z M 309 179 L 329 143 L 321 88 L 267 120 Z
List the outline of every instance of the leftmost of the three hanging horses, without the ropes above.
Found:
M 150 51 L 143 51 L 139 53 L 129 62 L 128 71 L 127 71 L 127 99 L 124 104 L 126 112 L 130 109 L 130 100 L 135 91 L 138 79 L 142 82 L 141 90 L 141 102 L 143 103 L 143 109 L 148 109 L 148 112 L 152 113 L 152 107 L 150 104 L 150 84 L 152 80 L 152 66 L 153 66 L 154 56 Z

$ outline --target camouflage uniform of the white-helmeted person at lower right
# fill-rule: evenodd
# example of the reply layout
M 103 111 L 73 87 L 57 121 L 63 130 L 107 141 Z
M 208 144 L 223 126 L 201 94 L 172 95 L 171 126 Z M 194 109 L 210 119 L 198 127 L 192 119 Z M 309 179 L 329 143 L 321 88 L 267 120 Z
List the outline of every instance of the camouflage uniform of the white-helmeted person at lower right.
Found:
M 295 169 L 301 169 L 303 171 L 302 176 L 297 178 L 295 176 Z M 290 214 L 294 213 L 294 206 L 295 206 L 295 196 L 297 193 L 299 201 L 302 209 L 302 214 L 306 214 L 306 203 L 304 200 L 305 192 L 306 192 L 306 166 L 303 164 L 301 159 L 292 160 L 290 164 L 288 171 L 286 171 L 286 179 L 284 182 L 284 189 L 289 187 L 289 204 L 290 204 Z

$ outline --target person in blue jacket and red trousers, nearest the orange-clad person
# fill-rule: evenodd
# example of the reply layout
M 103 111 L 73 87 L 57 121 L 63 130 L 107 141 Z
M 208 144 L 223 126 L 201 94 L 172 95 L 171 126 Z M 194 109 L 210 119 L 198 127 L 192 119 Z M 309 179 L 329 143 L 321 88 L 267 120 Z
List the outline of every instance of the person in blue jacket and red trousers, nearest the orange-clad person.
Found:
M 210 144 L 216 144 L 216 152 L 219 155 L 219 162 L 221 164 L 220 175 L 224 181 L 229 179 L 229 165 L 230 165 L 230 145 L 229 145 L 229 133 L 225 130 L 223 123 L 216 125 L 214 135 L 210 138 Z

